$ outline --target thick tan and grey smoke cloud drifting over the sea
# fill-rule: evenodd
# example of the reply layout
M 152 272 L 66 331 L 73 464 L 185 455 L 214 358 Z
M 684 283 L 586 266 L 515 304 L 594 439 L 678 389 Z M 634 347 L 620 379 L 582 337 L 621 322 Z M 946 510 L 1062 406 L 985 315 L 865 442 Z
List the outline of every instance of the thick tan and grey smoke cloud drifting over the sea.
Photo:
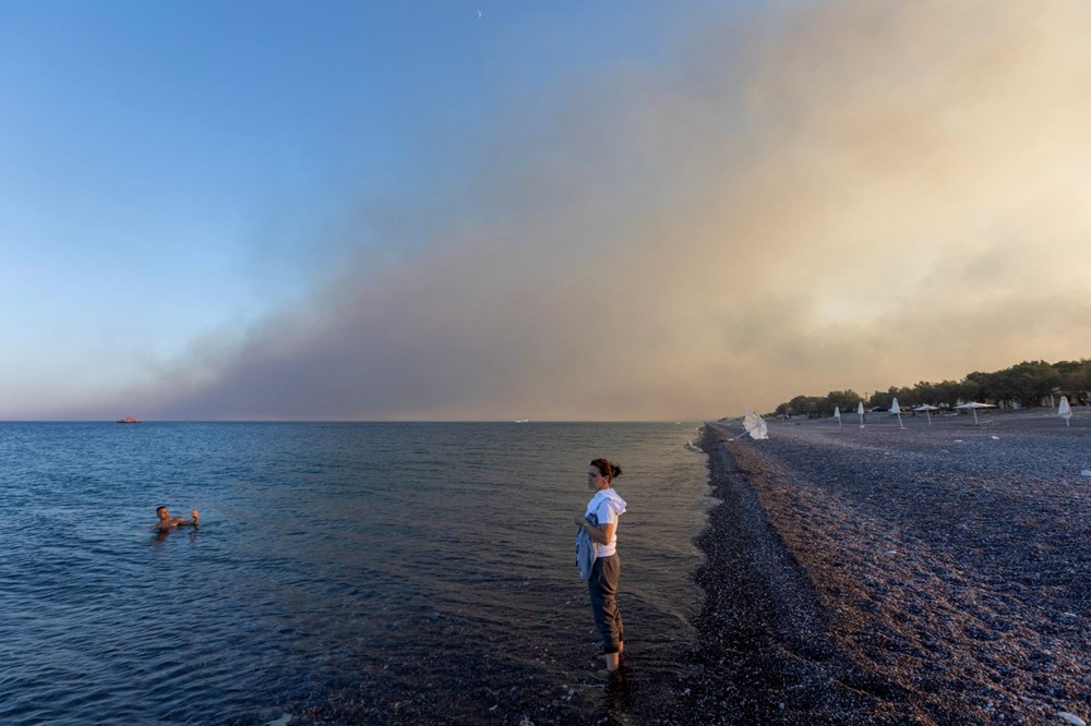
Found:
M 429 237 L 142 410 L 693 419 L 1087 355 L 1089 13 L 824 3 L 589 72 L 489 130 L 457 211 L 406 203 Z

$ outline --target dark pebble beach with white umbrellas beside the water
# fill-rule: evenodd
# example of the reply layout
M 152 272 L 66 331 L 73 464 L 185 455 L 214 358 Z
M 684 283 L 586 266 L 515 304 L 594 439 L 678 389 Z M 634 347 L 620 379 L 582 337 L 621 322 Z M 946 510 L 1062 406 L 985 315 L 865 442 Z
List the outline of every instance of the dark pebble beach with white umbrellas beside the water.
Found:
M 980 414 L 979 414 L 980 415 Z M 702 723 L 1091 719 L 1091 413 L 770 423 L 702 446 L 722 500 Z M 1091 472 L 1089 472 L 1091 473 Z

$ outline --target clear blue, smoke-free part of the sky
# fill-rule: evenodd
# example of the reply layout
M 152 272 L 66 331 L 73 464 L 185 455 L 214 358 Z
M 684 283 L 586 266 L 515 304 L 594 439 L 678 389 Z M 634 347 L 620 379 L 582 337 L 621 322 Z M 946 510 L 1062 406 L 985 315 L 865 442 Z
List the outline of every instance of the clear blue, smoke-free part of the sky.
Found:
M 651 3 L 579 4 L 4 3 L 15 398 L 140 377 L 304 294 L 341 254 L 350 205 L 442 204 L 493 116 L 655 55 Z M 369 243 L 392 247 L 350 241 Z

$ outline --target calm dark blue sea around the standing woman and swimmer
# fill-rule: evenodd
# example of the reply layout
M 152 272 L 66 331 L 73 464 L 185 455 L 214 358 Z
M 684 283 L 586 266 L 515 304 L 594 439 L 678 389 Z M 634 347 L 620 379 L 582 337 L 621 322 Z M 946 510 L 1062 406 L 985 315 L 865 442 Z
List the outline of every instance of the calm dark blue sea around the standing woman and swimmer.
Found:
M 0 424 L 0 723 L 655 721 L 700 605 L 695 428 Z M 573 557 L 599 456 L 621 692 Z M 158 505 L 201 529 L 156 537 Z

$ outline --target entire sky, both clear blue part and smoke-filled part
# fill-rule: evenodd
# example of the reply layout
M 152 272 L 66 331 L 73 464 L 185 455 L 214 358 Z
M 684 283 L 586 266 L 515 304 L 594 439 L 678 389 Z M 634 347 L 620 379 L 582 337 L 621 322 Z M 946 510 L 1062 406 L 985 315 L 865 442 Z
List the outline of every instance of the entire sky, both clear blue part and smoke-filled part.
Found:
M 0 420 L 686 420 L 1091 358 L 1082 0 L 0 3 Z

